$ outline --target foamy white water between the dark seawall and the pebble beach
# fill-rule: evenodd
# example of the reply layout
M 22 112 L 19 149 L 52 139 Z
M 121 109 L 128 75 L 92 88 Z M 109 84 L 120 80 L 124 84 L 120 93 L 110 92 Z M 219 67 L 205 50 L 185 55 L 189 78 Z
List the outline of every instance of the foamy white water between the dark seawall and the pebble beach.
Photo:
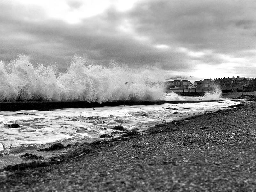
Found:
M 217 111 L 237 104 L 230 100 L 148 106 L 116 106 L 100 108 L 67 108 L 51 111 L 0 112 L 0 143 L 3 148 L 28 144 L 44 144 L 57 140 L 91 141 L 122 125 L 131 130 L 145 130 L 154 124 L 184 119 L 206 111 Z M 174 112 L 178 112 L 173 114 Z M 17 123 L 19 128 L 8 129 Z

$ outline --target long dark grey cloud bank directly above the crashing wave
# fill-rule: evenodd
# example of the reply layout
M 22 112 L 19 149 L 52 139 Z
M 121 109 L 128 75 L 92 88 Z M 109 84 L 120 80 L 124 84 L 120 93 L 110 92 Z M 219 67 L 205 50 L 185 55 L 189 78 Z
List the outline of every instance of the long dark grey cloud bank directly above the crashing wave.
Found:
M 110 60 L 134 66 L 161 62 L 164 68 L 169 68 L 169 60 L 172 59 L 179 63 L 176 68 L 181 66 L 181 57 L 177 54 L 159 52 L 150 44 L 139 43 L 133 36 L 120 33 L 117 26 L 123 18 L 122 14 L 108 10 L 101 16 L 84 19 L 79 25 L 59 20 L 19 21 L 12 30 L 20 31 L 28 40 L 21 45 L 17 35 L 13 35 L 12 46 L 17 47 L 14 55 L 31 54 L 31 59 L 37 63 L 57 61 L 64 66 L 71 62 L 74 54 L 86 54 L 96 64 L 106 64 Z M 10 56 L 13 57 L 13 53 Z

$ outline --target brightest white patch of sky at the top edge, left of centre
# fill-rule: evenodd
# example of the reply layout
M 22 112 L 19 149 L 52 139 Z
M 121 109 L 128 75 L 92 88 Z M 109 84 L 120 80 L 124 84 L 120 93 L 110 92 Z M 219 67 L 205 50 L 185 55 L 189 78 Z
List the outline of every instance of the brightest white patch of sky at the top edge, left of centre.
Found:
M 69 24 L 78 24 L 81 20 L 99 15 L 111 6 L 117 11 L 125 12 L 130 10 L 136 0 L 14 0 L 14 4 L 25 6 L 36 6 L 45 11 L 48 18 L 63 20 Z M 31 18 L 33 20 L 33 18 Z

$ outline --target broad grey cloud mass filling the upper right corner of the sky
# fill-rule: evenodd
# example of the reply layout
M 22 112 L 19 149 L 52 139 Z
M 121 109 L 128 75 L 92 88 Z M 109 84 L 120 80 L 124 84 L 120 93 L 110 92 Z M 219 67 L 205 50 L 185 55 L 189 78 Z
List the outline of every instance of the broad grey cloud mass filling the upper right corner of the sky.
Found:
M 252 32 L 244 31 L 256 24 L 256 3 L 250 2 L 155 1 L 138 6 L 132 15 L 137 30 L 156 42 L 230 53 L 255 46 L 246 42 Z

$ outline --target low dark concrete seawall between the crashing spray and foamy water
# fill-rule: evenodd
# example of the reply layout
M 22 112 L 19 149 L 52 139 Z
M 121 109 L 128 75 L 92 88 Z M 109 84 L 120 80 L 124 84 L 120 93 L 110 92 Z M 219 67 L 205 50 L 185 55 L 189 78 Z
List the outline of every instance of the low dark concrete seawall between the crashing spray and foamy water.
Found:
M 114 101 L 114 102 L 85 102 L 85 101 L 26 101 L 26 102 L 0 102 L 0 111 L 19 111 L 19 110 L 53 110 L 61 108 L 90 108 L 118 105 L 161 105 L 164 103 L 198 103 L 212 102 L 217 100 L 200 101 Z

